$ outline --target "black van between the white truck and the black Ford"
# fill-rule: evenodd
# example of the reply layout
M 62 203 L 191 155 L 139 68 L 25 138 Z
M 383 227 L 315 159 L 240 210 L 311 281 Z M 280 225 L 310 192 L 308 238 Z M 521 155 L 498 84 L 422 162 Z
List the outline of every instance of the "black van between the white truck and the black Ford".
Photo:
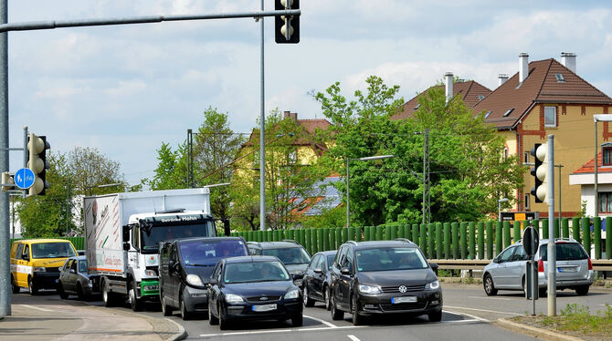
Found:
M 207 285 L 216 262 L 245 255 L 248 248 L 242 237 L 198 237 L 161 243 L 159 294 L 164 315 L 179 309 L 186 320 L 191 315 L 207 313 Z

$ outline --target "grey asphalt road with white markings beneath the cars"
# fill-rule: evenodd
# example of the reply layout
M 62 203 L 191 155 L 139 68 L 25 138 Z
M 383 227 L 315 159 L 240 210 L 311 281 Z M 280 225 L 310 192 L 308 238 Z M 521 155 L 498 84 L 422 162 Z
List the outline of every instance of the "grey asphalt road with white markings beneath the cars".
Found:
M 387 315 L 371 318 L 363 326 L 353 326 L 351 315 L 345 314 L 343 321 L 332 321 L 332 316 L 321 304 L 304 309 L 304 325 L 293 328 L 290 324 L 269 322 L 246 322 L 233 325 L 230 330 L 221 331 L 218 325 L 209 325 L 206 318 L 183 321 L 178 314 L 169 316 L 171 320 L 183 325 L 189 339 L 215 340 L 535 340 L 531 336 L 515 334 L 498 327 L 492 322 L 498 318 L 525 315 L 531 310 L 531 301 L 523 298 L 522 293 L 501 291 L 497 296 L 488 297 L 478 285 L 442 284 L 444 293 L 444 314 L 442 321 L 430 323 L 427 316 L 406 317 Z M 71 296 L 73 297 L 73 296 Z M 59 300 L 57 294 L 44 294 L 41 299 Z M 76 298 L 71 298 L 76 299 Z M 567 304 L 577 303 L 588 306 L 592 312 L 612 305 L 612 291 L 592 290 L 586 296 L 575 292 L 557 293 L 557 310 L 560 312 Z M 101 305 L 100 301 L 90 301 L 90 305 Z M 536 314 L 546 314 L 546 297 L 537 301 Z M 110 309 L 129 309 L 115 307 Z M 142 315 L 161 317 L 157 305 L 146 305 Z

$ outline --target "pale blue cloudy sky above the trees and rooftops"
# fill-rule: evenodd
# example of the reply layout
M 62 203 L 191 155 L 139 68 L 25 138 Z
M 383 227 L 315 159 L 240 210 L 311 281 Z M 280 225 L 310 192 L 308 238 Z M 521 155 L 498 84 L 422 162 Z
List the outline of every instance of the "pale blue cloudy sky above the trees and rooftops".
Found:
M 259 10 L 246 0 L 18 0 L 8 22 L 193 15 Z M 265 9 L 274 7 L 265 0 Z M 413 98 L 453 72 L 494 89 L 498 75 L 573 52 L 577 74 L 612 95 L 607 1 L 301 0 L 300 43 L 274 43 L 264 21 L 265 111 L 324 119 L 312 91 L 343 95 L 375 75 Z M 121 163 L 126 181 L 152 178 L 163 142 L 176 146 L 205 109 L 248 133 L 260 112 L 260 23 L 253 18 L 11 32 L 9 136 L 23 126 L 53 151 L 91 147 Z M 12 151 L 10 170 L 23 156 Z

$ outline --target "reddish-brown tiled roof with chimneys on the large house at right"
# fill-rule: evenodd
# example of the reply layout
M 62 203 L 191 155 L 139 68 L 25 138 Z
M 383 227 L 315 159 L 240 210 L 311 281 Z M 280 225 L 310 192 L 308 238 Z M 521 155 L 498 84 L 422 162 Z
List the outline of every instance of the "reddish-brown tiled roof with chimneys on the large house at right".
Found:
M 565 82 L 557 81 L 561 74 Z M 593 87 L 554 58 L 529 63 L 529 77 L 519 87 L 517 72 L 473 108 L 489 112 L 487 122 L 498 128 L 513 127 L 535 103 L 612 104 L 612 98 Z M 510 114 L 504 114 L 513 109 Z

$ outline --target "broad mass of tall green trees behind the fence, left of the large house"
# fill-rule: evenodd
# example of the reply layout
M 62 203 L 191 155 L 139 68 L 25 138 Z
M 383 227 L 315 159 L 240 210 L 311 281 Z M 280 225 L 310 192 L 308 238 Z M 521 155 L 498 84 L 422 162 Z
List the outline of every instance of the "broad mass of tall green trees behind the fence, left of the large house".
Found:
M 332 120 L 328 131 L 335 145 L 322 162 L 339 173 L 351 159 L 350 198 L 352 221 L 363 225 L 388 222 L 420 222 L 423 195 L 423 131 L 430 129 L 430 193 L 432 220 L 475 220 L 495 212 L 500 192 L 522 184 L 517 160 L 501 158 L 503 140 L 487 127 L 483 116 L 475 118 L 460 100 L 446 104 L 442 90 L 432 88 L 419 98 L 414 118 L 390 119 L 402 98 L 399 87 L 387 87 L 381 78 L 366 80 L 365 92 L 353 100 L 341 94 L 339 83 L 315 98 Z M 358 161 L 374 155 L 393 154 L 386 160 Z M 345 192 L 344 182 L 337 182 Z M 344 201 L 346 198 L 344 198 Z

